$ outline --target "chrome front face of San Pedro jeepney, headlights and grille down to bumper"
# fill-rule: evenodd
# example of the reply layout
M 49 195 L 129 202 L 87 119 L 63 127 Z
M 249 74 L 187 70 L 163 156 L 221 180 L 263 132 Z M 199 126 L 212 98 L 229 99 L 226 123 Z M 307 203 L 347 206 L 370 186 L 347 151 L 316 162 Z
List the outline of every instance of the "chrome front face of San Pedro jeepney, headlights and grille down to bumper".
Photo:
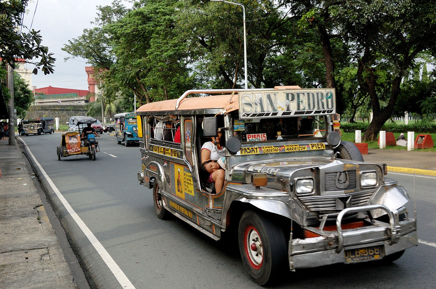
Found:
M 409 197 L 382 166 L 336 160 L 310 171 L 313 190 L 298 193 L 300 176 L 291 192 L 303 229 L 289 242 L 291 270 L 383 259 L 418 244 L 416 220 L 403 207 Z

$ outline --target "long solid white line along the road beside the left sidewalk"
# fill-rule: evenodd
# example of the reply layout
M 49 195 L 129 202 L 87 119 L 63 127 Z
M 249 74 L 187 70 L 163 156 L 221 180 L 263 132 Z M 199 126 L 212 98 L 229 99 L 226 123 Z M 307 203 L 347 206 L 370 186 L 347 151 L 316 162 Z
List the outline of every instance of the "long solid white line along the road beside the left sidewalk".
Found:
M 33 153 L 30 151 L 29 147 L 27 146 L 26 142 L 21 138 L 18 137 L 24 145 L 27 147 L 30 155 L 32 156 L 33 161 L 35 162 L 36 166 L 39 167 L 44 177 L 47 179 L 48 183 L 50 184 L 51 188 L 53 189 L 56 196 L 58 196 L 59 200 L 64 205 L 65 209 L 68 211 L 68 213 L 71 215 L 71 217 L 74 219 L 76 224 L 81 228 L 82 232 L 85 234 L 85 236 L 88 238 L 89 242 L 94 246 L 94 248 L 97 250 L 97 253 L 100 255 L 101 259 L 106 263 L 106 265 L 109 267 L 109 269 L 112 271 L 115 278 L 118 280 L 120 285 L 123 287 L 123 289 L 135 289 L 133 284 L 130 282 L 129 278 L 124 274 L 123 271 L 121 271 L 121 268 L 115 263 L 115 261 L 112 259 L 111 255 L 109 255 L 108 251 L 103 247 L 103 245 L 97 240 L 96 236 L 91 232 L 91 230 L 85 225 L 85 223 L 82 221 L 82 219 L 79 217 L 79 215 L 73 210 L 73 208 L 70 206 L 70 204 L 66 201 L 64 196 L 61 194 L 61 192 L 58 190 L 56 185 L 51 181 L 51 179 L 48 177 L 46 171 L 41 167 L 41 165 L 36 160 Z

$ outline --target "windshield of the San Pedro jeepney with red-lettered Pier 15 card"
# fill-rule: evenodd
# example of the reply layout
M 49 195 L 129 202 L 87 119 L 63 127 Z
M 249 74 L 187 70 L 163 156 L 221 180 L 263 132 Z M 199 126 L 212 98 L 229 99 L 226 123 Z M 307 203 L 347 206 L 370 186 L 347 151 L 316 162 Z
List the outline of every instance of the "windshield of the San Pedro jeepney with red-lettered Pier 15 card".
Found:
M 322 138 L 326 131 L 325 116 L 233 120 L 233 136 L 242 143 Z

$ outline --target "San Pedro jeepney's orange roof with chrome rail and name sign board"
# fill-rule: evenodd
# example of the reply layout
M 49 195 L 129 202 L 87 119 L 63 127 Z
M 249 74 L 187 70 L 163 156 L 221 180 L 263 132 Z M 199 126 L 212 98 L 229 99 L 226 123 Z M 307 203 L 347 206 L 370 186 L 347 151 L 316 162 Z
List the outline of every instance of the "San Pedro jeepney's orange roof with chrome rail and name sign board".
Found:
M 209 95 L 202 94 L 223 94 Z M 187 97 L 196 94 L 200 97 Z M 336 113 L 335 89 L 301 89 L 298 86 L 254 90 L 190 90 L 178 99 L 145 104 L 138 115 L 222 113 L 239 110 L 241 119 L 315 116 Z

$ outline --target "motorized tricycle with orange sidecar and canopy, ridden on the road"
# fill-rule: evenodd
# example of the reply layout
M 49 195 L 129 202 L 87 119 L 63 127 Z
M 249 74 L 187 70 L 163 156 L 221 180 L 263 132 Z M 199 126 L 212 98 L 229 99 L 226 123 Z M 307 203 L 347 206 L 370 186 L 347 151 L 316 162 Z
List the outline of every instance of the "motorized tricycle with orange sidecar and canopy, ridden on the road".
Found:
M 78 116 L 72 117 L 70 121 L 70 128 L 68 132 L 62 134 L 61 145 L 57 146 L 56 153 L 58 160 L 61 157 L 70 155 L 84 154 L 89 156 L 93 161 L 96 160 L 96 152 L 100 152 L 98 141 L 95 134 L 88 134 L 86 137 L 81 138 L 81 132 L 87 123 L 97 122 L 97 119 L 92 117 Z

